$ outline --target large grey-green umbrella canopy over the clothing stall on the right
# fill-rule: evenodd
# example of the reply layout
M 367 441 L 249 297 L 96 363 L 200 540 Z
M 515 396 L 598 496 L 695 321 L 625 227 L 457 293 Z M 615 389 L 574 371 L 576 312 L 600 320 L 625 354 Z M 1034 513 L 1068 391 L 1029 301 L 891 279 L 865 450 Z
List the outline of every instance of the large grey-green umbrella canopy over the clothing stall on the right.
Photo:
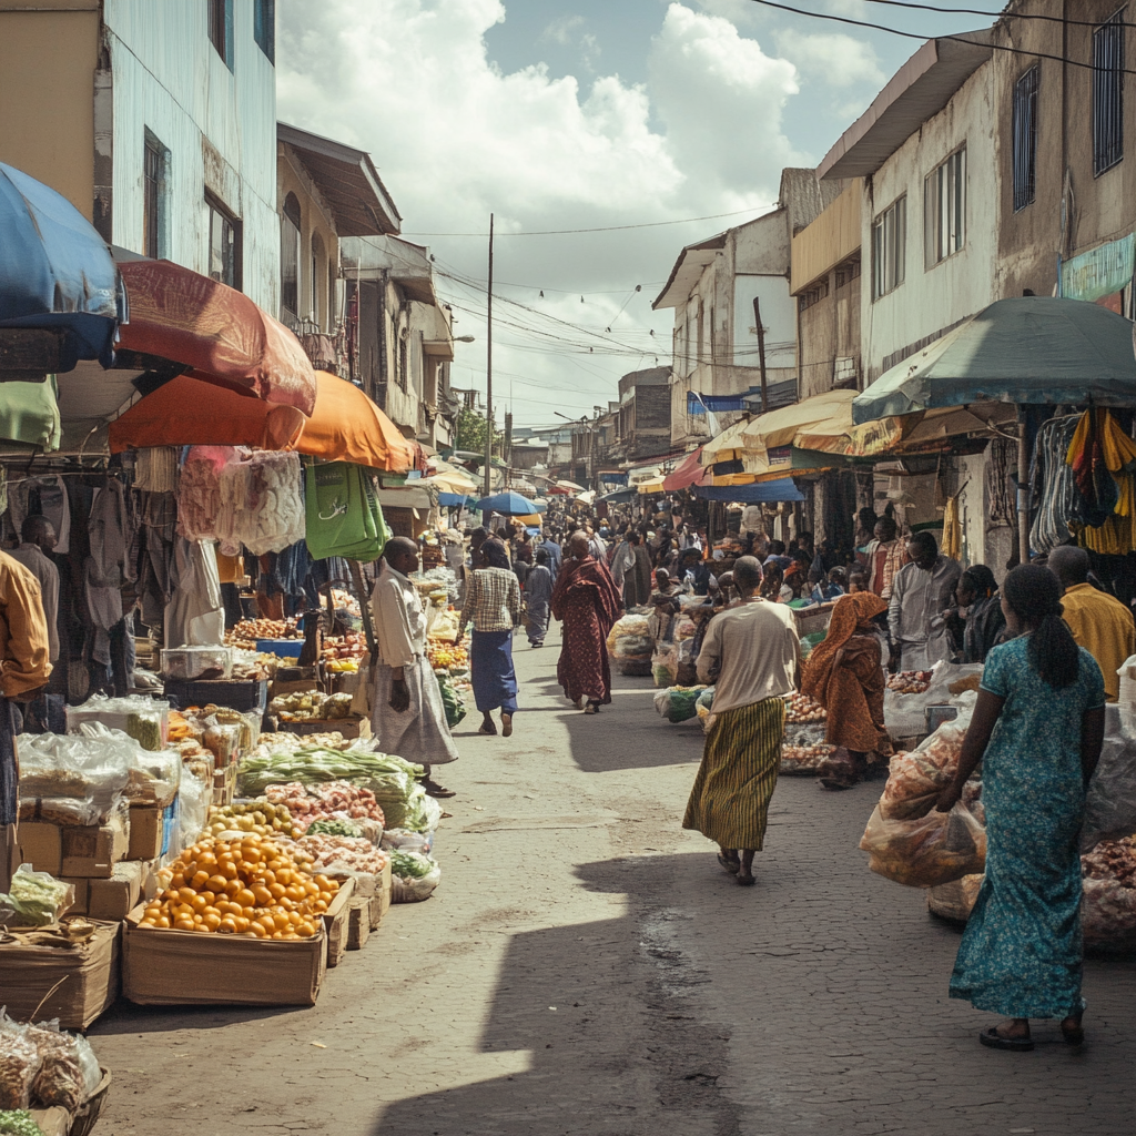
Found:
M 1131 406 L 1133 325 L 1085 300 L 999 300 L 885 371 L 852 403 L 858 425 L 975 402 Z

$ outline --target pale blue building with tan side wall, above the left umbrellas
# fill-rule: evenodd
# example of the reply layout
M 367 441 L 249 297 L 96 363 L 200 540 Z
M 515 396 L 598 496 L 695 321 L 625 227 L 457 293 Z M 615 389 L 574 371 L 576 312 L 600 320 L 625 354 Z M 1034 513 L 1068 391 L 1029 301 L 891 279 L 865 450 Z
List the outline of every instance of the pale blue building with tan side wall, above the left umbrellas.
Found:
M 277 310 L 274 0 L 0 0 L 0 117 L 109 243 Z

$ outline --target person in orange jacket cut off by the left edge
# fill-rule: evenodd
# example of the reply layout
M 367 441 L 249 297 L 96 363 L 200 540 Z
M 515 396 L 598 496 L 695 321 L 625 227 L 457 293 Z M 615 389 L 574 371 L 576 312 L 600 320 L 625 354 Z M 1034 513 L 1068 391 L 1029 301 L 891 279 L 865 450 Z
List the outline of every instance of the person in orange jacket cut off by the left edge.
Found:
M 48 620 L 39 580 L 0 552 L 0 891 L 7 892 L 16 844 L 19 765 L 12 702 L 33 702 L 51 674 Z

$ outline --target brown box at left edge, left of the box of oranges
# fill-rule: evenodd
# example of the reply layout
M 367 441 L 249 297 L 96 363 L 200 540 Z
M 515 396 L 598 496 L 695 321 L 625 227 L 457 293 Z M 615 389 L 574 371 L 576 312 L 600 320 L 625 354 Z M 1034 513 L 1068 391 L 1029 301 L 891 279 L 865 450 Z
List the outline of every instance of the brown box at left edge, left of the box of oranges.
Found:
M 11 932 L 10 942 L 0 942 L 0 1005 L 17 1021 L 35 1013 L 36 1021 L 58 1018 L 64 1029 L 86 1029 L 118 997 L 120 927 L 95 924 L 77 944 L 58 929 Z

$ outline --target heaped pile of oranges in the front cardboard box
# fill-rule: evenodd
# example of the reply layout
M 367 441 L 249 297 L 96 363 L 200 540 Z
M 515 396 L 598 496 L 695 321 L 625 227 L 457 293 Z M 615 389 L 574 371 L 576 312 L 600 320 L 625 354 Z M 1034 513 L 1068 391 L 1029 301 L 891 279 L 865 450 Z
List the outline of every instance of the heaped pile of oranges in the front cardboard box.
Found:
M 141 927 L 248 938 L 311 938 L 340 885 L 299 867 L 256 834 L 201 841 L 170 864 L 169 886 Z

